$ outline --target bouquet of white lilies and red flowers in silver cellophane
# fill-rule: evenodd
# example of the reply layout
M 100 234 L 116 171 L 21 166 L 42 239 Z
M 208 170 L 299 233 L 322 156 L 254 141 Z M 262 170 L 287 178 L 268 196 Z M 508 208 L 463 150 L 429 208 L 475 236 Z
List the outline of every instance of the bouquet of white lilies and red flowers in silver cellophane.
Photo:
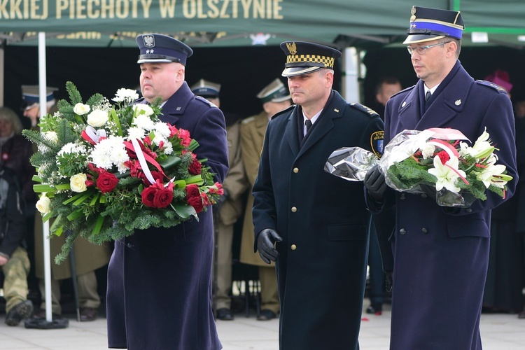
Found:
M 363 148 L 340 148 L 330 155 L 325 171 L 349 181 L 363 181 L 364 174 L 379 165 L 385 182 L 407 193 L 435 192 L 442 207 L 470 207 L 486 200 L 486 190 L 505 197 L 504 165 L 497 165 L 498 151 L 485 131 L 473 146 L 458 130 L 433 128 L 404 130 L 386 145 L 380 160 Z M 429 186 L 433 191 L 423 190 Z

